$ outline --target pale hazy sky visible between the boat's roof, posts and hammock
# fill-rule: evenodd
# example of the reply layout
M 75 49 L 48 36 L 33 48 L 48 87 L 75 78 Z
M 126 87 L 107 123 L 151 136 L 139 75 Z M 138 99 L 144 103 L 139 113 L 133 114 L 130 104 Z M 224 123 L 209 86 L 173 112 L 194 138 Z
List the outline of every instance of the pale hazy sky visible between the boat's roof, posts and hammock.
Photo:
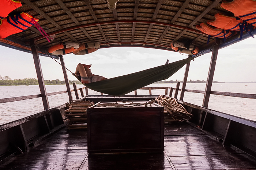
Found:
M 0 75 L 11 79 L 37 78 L 32 54 L 0 46 Z M 256 38 L 248 38 L 218 52 L 214 81 L 256 81 Z M 39 56 L 45 80 L 64 80 L 60 64 L 49 57 Z M 113 78 L 187 58 L 166 50 L 139 47 L 99 49 L 87 55 L 64 55 L 66 67 L 75 72 L 78 63 L 92 64 L 93 74 Z M 211 53 L 191 61 L 188 80 L 207 80 Z M 60 60 L 58 60 L 60 62 Z M 183 80 L 185 66 L 167 80 Z M 69 80 L 76 78 L 68 72 Z

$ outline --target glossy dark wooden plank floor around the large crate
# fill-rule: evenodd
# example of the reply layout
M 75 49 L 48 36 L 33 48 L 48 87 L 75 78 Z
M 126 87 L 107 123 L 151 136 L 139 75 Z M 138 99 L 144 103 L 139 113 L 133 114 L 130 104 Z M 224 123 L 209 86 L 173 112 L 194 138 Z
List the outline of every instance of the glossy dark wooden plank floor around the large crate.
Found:
M 0 170 L 256 170 L 256 160 L 186 123 L 165 126 L 165 152 L 87 155 L 87 132 L 62 129 Z

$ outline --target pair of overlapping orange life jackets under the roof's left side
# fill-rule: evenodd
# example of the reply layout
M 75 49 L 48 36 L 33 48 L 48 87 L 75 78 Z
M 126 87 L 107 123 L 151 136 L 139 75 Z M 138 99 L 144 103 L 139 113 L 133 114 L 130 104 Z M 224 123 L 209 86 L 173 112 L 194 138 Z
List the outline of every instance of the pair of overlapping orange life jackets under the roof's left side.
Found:
M 0 4 L 0 38 L 22 32 L 38 22 L 38 19 L 24 12 L 10 15 L 10 12 L 22 5 L 20 1 L 0 0 Z

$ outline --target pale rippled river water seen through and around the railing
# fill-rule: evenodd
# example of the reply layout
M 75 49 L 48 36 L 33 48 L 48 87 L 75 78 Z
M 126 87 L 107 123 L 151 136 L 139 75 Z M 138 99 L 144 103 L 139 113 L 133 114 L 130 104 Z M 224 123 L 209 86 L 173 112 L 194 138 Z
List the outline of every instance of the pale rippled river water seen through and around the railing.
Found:
M 182 86 L 182 84 L 181 84 Z M 180 86 L 180 88 L 181 88 Z M 82 84 L 77 85 L 78 88 L 84 87 Z M 176 87 L 176 84 L 150 84 L 146 87 Z M 205 90 L 206 83 L 187 83 L 186 89 L 189 90 Z M 46 91 L 57 92 L 67 90 L 65 85 L 46 85 Z M 212 91 L 236 92 L 255 94 L 256 83 L 213 83 Z M 0 86 L 0 98 L 11 98 L 18 96 L 27 96 L 40 94 L 39 86 Z M 84 91 L 85 94 L 85 91 Z M 165 94 L 165 90 L 152 90 L 152 95 Z M 169 91 L 168 91 L 169 94 Z M 173 92 L 174 94 L 174 92 Z M 72 92 L 73 98 L 75 94 Z M 79 94 L 80 95 L 80 94 Z M 89 95 L 100 95 L 89 89 Z M 134 95 L 131 92 L 127 95 Z M 137 95 L 149 95 L 148 90 L 137 90 Z M 81 95 L 80 95 L 81 97 Z M 185 92 L 184 101 L 202 106 L 204 94 Z M 180 91 L 178 99 L 180 98 Z M 58 94 L 48 96 L 50 108 L 60 106 L 68 102 L 68 94 Z M 229 96 L 211 95 L 208 108 L 225 112 L 227 114 L 244 117 L 256 121 L 256 99 L 236 98 Z M 21 100 L 16 102 L 0 104 L 0 124 L 7 123 L 16 119 L 20 119 L 37 112 L 43 111 L 41 98 Z

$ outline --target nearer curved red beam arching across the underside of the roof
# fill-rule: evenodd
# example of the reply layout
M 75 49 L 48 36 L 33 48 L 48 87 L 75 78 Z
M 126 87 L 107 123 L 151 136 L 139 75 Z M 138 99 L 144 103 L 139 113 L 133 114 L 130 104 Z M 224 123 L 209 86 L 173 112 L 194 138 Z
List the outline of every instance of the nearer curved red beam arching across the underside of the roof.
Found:
M 116 21 L 103 21 L 103 22 L 100 22 L 100 23 L 89 23 L 89 24 L 69 27 L 69 28 L 66 28 L 66 29 L 63 29 L 63 30 L 59 30 L 59 31 L 54 31 L 54 32 L 48 33 L 48 35 L 54 35 L 54 34 L 62 33 L 64 31 L 70 31 L 70 30 L 78 29 L 78 28 L 82 28 L 82 27 L 90 27 L 90 26 L 95 26 L 95 25 L 112 24 L 112 23 L 145 23 L 145 24 L 165 25 L 165 26 L 170 26 L 170 27 L 174 27 L 174 28 L 187 29 L 189 31 L 193 31 L 193 32 L 197 32 L 197 33 L 200 33 L 200 34 L 203 34 L 203 35 L 207 35 L 206 33 L 203 33 L 203 32 L 201 32 L 197 29 L 182 27 L 180 25 L 174 25 L 174 24 L 169 24 L 169 23 L 161 23 L 161 22 L 156 22 L 156 21 L 144 21 L 144 20 L 116 20 Z M 37 37 L 37 38 L 35 38 L 35 40 L 39 40 L 39 39 L 42 39 L 42 38 L 44 38 L 44 36 Z

